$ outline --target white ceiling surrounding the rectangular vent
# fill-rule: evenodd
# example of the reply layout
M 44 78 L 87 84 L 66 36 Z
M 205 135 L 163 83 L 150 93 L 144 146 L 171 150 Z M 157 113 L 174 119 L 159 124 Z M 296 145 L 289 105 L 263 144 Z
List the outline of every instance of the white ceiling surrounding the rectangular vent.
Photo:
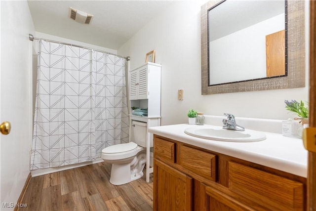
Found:
M 37 32 L 118 49 L 145 26 L 171 0 L 28 0 Z M 69 8 L 94 17 L 80 24 Z

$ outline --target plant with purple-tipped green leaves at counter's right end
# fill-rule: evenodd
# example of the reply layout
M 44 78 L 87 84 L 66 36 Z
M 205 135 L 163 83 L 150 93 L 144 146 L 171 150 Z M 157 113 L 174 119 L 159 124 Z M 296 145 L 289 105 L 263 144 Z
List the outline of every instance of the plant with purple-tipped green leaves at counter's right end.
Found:
M 302 125 L 308 123 L 308 107 L 304 105 L 304 102 L 301 100 L 301 102 L 297 102 L 296 100 L 284 100 L 285 102 L 285 109 L 296 113 L 297 116 L 300 118 L 294 118 L 296 120 L 301 120 L 300 123 Z

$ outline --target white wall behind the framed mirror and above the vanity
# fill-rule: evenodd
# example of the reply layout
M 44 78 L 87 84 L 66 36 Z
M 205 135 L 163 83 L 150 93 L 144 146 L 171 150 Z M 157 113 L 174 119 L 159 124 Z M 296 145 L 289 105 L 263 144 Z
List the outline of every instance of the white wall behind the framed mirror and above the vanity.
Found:
M 161 125 L 187 123 L 189 108 L 207 115 L 232 113 L 237 117 L 263 119 L 295 117 L 285 110 L 284 100 L 307 101 L 308 81 L 303 88 L 201 95 L 200 6 L 205 2 L 174 2 L 118 49 L 118 54 L 131 57 L 131 68 L 143 64 L 146 53 L 156 50 L 155 62 L 162 64 Z M 308 9 L 306 11 L 309 17 Z M 306 37 L 308 33 L 306 31 Z M 307 51 L 307 61 L 308 57 Z M 308 70 L 308 62 L 306 66 Z M 183 101 L 177 99 L 178 89 L 184 89 Z

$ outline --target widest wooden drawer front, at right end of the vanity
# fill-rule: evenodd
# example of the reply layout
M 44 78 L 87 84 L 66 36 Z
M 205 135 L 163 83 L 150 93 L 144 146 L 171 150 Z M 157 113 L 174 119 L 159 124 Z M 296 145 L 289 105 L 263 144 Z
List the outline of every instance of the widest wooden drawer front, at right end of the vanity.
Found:
M 274 211 L 304 209 L 304 185 L 262 170 L 229 162 L 229 189 Z

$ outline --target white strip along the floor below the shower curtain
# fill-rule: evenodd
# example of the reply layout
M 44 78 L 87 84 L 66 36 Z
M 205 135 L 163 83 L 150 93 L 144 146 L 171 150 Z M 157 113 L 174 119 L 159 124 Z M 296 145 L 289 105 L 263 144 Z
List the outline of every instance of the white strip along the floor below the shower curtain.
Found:
M 31 174 L 32 174 L 32 177 L 40 176 L 40 175 L 44 175 L 47 173 L 55 173 L 55 172 L 62 171 L 62 170 L 75 169 L 78 167 L 88 166 L 91 164 L 97 164 L 97 163 L 101 163 L 101 162 L 103 162 L 102 158 L 98 158 L 94 161 L 88 161 L 88 162 L 83 162 L 83 163 L 79 163 L 79 164 L 71 164 L 71 165 L 62 166 L 62 167 L 51 167 L 51 168 L 47 168 L 47 169 L 36 169 L 36 170 L 32 170 Z

